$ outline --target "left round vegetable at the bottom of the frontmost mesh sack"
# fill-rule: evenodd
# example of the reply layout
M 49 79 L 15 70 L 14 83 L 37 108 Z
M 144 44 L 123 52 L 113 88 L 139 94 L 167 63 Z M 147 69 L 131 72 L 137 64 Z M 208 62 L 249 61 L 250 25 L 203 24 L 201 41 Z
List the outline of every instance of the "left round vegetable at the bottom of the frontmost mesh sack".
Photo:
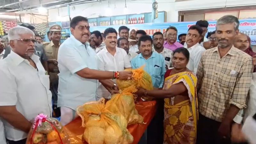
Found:
M 105 131 L 97 126 L 90 126 L 84 130 L 84 140 L 89 144 L 103 144 Z

